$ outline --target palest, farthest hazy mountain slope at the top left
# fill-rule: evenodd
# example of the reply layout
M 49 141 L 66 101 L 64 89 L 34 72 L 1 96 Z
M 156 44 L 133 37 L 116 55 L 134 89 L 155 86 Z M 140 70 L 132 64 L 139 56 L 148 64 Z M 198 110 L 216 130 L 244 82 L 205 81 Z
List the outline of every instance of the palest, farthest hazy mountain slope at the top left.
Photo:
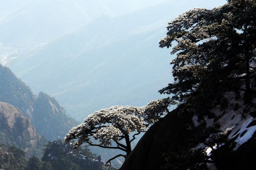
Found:
M 151 1 L 143 6 L 143 2 L 134 2 L 123 3 L 113 0 L 1 2 L 3 6 L 0 7 L 0 18 L 2 16 L 4 18 L 0 19 L 0 32 L 4 34 L 0 34 L 0 42 L 4 42 L 5 47 L 49 42 L 81 28 L 101 15 L 122 15 L 136 9 L 134 4 L 140 9 L 159 3 Z

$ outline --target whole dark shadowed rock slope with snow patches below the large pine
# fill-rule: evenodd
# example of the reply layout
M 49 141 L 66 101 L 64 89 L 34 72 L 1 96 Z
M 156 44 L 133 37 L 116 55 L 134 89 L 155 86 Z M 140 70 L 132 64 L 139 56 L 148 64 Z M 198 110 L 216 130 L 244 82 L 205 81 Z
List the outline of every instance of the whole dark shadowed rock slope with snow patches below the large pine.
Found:
M 148 129 L 120 170 L 255 169 L 255 117 L 212 109 L 212 117 L 198 121 L 195 115 L 178 116 L 180 109 Z

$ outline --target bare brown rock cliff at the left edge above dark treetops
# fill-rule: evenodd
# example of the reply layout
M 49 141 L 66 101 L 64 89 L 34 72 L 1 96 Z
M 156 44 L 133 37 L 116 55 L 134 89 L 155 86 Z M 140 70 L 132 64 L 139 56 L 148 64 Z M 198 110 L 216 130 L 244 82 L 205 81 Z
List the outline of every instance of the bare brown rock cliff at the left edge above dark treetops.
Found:
M 0 102 L 0 144 L 16 145 L 33 155 L 44 139 L 36 133 L 29 118 L 9 103 Z

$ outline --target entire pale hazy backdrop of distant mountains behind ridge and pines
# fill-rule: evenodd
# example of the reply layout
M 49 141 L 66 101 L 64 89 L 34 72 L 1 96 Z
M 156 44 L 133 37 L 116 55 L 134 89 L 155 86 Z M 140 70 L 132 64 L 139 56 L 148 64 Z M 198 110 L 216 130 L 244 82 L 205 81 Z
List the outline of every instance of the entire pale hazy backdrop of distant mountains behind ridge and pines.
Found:
M 163 98 L 172 81 L 168 21 L 225 0 L 0 0 L 0 61 L 82 120 L 113 105 Z M 5 12 L 4 12 L 5 11 Z

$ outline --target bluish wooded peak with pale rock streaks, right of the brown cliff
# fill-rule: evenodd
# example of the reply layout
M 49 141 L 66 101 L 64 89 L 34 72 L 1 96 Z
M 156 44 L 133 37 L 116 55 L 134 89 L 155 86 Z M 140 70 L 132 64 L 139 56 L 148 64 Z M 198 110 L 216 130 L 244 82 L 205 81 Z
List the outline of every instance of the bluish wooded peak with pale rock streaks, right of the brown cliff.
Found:
M 64 138 L 70 127 L 78 123 L 66 115 L 58 101 L 44 92 L 39 92 L 33 104 L 34 127 L 48 140 Z

